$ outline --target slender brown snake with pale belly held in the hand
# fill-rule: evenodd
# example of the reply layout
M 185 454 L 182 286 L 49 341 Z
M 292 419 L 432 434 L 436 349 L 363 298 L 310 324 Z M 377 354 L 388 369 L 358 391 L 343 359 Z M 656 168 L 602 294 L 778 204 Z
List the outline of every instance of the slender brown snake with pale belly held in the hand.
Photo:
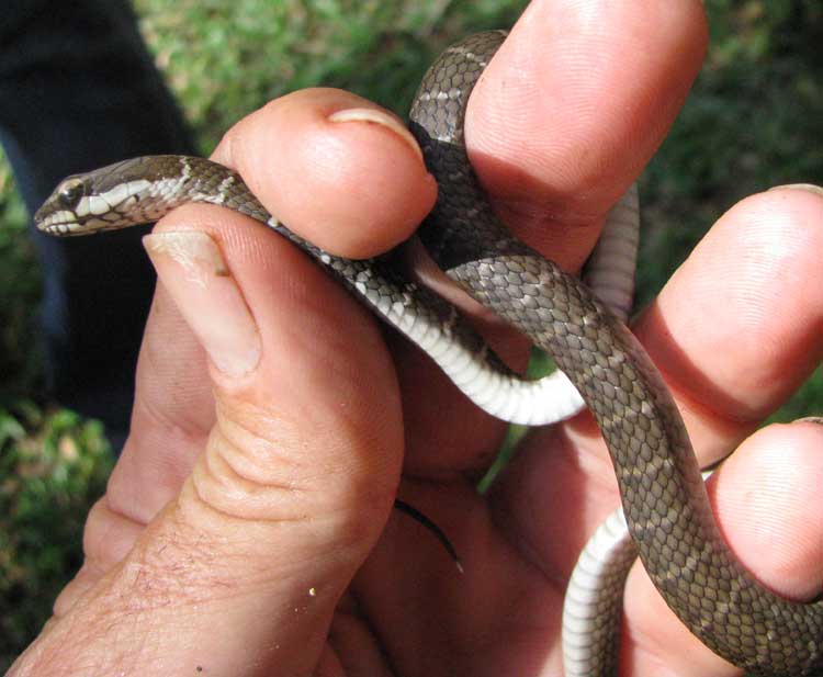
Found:
M 631 546 L 668 607 L 704 645 L 751 675 L 823 675 L 823 600 L 760 585 L 714 521 L 683 418 L 624 321 L 576 277 L 515 238 L 495 216 L 465 149 L 469 97 L 505 31 L 447 48 L 425 75 L 409 129 L 439 184 L 416 237 L 472 297 L 548 352 L 579 392 L 608 448 Z M 233 170 L 206 159 L 144 156 L 65 179 L 35 214 L 52 235 L 150 223 L 190 202 L 250 216 L 284 236 L 379 317 L 420 347 L 477 406 L 505 421 L 544 425 L 546 379 L 509 369 L 450 303 L 409 277 L 393 250 L 330 255 L 272 216 Z M 618 576 L 619 577 L 619 576 Z M 615 600 L 605 617 L 617 618 Z M 588 675 L 616 674 L 612 622 L 589 622 Z M 565 637 L 564 637 L 565 640 Z

